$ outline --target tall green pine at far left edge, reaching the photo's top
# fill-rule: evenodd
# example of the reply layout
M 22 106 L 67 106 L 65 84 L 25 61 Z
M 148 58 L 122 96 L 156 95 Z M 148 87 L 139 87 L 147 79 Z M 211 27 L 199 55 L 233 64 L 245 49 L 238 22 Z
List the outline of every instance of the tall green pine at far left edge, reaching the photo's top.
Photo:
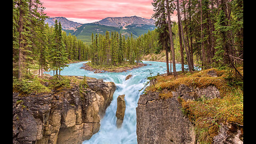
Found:
M 13 69 L 18 70 L 20 81 L 37 59 L 35 51 L 38 47 L 35 44 L 39 39 L 35 37 L 38 35 L 36 29 L 43 27 L 40 23 L 46 18 L 43 10 L 40 1 L 13 1 Z

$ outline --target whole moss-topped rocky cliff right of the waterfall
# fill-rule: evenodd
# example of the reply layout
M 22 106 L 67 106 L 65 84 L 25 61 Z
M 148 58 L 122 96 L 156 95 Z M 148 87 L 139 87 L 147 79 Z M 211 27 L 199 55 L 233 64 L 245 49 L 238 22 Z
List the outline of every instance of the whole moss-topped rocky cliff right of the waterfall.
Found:
M 242 144 L 243 97 L 230 93 L 234 85 L 227 85 L 225 73 L 207 70 L 180 77 L 158 76 L 140 96 L 138 144 Z

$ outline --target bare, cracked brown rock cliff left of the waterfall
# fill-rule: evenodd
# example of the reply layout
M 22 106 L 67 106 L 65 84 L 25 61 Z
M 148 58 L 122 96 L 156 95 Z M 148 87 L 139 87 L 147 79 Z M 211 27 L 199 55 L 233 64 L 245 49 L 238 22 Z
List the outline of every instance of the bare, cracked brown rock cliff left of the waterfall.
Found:
M 87 85 L 26 97 L 13 93 L 13 143 L 82 143 L 90 139 L 99 131 L 116 86 L 94 78 L 87 79 Z

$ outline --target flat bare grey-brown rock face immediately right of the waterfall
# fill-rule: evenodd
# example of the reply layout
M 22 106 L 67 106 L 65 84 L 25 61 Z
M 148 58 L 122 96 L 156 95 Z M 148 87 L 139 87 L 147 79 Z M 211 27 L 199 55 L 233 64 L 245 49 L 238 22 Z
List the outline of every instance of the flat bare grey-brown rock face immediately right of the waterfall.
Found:
M 137 114 L 138 143 L 193 143 L 194 126 L 182 113 L 177 98 L 159 100 L 158 92 L 140 96 Z

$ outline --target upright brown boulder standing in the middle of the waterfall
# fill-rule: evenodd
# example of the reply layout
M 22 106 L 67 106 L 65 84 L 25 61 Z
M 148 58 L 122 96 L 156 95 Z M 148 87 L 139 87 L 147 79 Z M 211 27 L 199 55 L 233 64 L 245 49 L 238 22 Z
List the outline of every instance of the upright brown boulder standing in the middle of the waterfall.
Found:
M 123 120 L 124 120 L 124 113 L 125 113 L 125 100 L 124 100 L 124 94 L 119 95 L 117 97 L 117 109 L 116 109 L 116 126 L 117 128 L 120 128 L 122 126 Z

